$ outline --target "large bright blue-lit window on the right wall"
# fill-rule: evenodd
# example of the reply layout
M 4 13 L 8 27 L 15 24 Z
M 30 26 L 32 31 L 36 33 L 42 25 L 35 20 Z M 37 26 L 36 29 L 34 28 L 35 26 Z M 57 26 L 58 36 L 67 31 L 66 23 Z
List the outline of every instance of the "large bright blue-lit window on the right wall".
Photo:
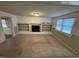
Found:
M 60 22 L 60 20 L 57 20 L 57 26 L 56 29 L 60 30 L 62 32 L 71 33 L 72 30 L 72 26 L 74 24 L 75 19 L 74 18 L 67 18 L 67 19 L 62 19 L 62 21 Z M 59 24 L 61 23 L 61 24 Z M 60 29 L 61 28 L 61 29 Z

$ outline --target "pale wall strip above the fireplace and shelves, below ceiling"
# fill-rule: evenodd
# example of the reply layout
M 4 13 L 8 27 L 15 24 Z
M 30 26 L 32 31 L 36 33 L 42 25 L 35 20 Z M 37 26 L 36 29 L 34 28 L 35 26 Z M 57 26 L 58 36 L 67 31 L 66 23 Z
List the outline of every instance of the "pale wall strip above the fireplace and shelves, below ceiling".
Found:
M 26 17 L 26 16 L 17 16 L 18 23 L 42 23 L 49 22 L 51 23 L 52 18 L 49 17 Z

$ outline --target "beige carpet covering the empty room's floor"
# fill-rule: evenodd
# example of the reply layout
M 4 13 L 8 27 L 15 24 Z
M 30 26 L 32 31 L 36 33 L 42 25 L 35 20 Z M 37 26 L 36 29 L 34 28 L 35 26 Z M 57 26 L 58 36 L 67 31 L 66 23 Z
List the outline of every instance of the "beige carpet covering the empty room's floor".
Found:
M 51 35 L 17 35 L 0 44 L 3 57 L 76 57 Z

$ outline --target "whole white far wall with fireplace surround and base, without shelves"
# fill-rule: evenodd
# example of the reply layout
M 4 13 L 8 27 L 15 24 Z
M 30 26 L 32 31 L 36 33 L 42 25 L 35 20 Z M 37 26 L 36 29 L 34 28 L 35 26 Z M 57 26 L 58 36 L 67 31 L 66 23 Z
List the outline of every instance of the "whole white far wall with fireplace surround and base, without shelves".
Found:
M 32 24 L 41 24 L 41 30 L 38 34 L 48 34 L 51 32 L 42 32 L 42 23 L 49 23 L 51 24 L 52 18 L 50 17 L 30 17 L 30 16 L 17 16 L 18 23 L 28 23 L 29 24 L 29 31 L 18 31 L 19 34 L 37 34 L 36 32 L 31 32 L 31 25 Z

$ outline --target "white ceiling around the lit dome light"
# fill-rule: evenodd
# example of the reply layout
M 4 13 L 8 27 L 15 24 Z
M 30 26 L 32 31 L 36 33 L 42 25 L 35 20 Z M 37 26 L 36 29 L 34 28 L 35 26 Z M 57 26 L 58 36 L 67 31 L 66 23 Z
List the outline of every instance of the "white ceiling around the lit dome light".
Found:
M 77 2 L 78 4 L 78 2 Z M 57 1 L 0 1 L 0 11 L 9 12 L 20 16 L 32 16 L 33 12 L 39 12 L 42 17 L 56 17 L 79 10 L 76 3 Z

